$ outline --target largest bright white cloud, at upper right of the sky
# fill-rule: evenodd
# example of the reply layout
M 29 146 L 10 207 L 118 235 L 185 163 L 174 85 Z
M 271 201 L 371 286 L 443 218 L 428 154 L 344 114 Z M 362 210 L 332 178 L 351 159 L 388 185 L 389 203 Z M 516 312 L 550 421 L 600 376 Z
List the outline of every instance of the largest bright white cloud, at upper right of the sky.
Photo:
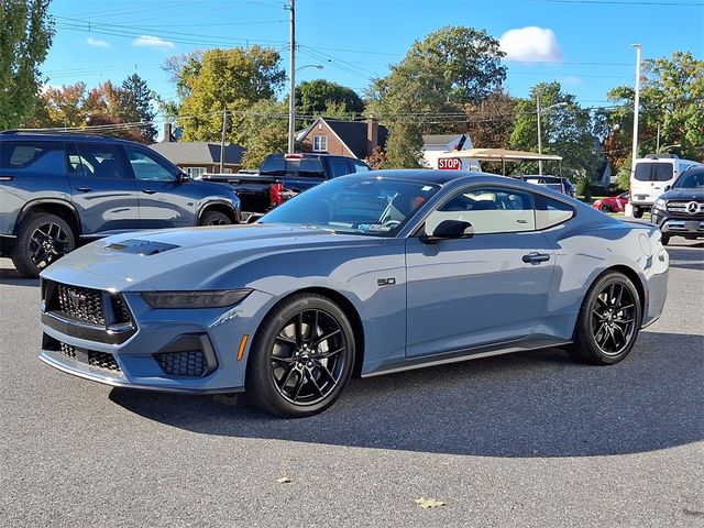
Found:
M 521 63 L 559 63 L 562 61 L 560 44 L 552 30 L 536 28 L 519 28 L 508 30 L 498 40 L 501 48 L 509 61 Z

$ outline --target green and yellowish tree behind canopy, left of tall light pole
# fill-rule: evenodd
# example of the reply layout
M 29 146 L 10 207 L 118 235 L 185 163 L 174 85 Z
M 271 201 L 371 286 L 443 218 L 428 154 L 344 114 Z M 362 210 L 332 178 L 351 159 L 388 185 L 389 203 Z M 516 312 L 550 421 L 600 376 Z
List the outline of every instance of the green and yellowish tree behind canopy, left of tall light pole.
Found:
M 540 123 L 542 153 L 562 156 L 562 168 L 573 178 L 591 179 L 602 162 L 592 118 L 587 109 L 578 105 L 573 95 L 562 91 L 559 82 L 540 82 L 530 90 L 528 99 L 516 103 L 512 146 L 537 152 L 538 97 L 543 109 Z M 518 168 L 534 172 L 536 164 L 524 164 Z

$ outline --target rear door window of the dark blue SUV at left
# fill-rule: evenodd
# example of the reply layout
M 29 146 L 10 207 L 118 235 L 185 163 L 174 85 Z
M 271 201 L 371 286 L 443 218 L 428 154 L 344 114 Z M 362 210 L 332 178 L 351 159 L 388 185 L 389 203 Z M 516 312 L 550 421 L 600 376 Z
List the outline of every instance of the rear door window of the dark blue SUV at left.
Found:
M 122 150 L 103 143 L 67 144 L 68 174 L 89 178 L 129 178 Z

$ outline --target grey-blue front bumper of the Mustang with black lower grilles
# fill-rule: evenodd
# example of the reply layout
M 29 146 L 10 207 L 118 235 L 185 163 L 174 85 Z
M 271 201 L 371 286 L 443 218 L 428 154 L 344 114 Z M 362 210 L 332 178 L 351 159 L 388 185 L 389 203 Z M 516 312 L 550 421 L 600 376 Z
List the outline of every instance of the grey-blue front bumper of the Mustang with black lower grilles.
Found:
M 226 309 L 152 309 L 139 293 L 121 294 L 133 329 L 124 339 L 94 324 L 42 312 L 40 359 L 65 373 L 118 387 L 217 394 L 244 389 L 244 334 L 253 336 L 272 296 L 253 292 Z M 251 339 L 248 340 L 248 344 Z

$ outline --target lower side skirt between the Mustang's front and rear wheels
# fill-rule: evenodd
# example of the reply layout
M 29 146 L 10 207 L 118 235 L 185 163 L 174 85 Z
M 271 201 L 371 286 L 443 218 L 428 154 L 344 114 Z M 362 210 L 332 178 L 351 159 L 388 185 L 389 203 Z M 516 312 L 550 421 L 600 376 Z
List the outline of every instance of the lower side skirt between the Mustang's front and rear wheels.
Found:
M 492 355 L 512 354 L 514 352 L 526 352 L 529 350 L 549 349 L 552 346 L 562 346 L 570 344 L 572 341 L 557 339 L 535 339 L 525 340 L 514 343 L 493 344 L 487 346 L 479 346 L 475 349 L 446 352 L 442 354 L 425 355 L 422 358 L 414 358 L 402 363 L 394 363 L 378 367 L 375 371 L 362 374 L 360 377 L 381 376 L 383 374 L 393 374 L 395 372 L 410 371 L 421 369 L 424 366 L 444 365 L 448 363 L 458 363 L 460 361 L 474 360 L 480 358 L 490 358 Z

